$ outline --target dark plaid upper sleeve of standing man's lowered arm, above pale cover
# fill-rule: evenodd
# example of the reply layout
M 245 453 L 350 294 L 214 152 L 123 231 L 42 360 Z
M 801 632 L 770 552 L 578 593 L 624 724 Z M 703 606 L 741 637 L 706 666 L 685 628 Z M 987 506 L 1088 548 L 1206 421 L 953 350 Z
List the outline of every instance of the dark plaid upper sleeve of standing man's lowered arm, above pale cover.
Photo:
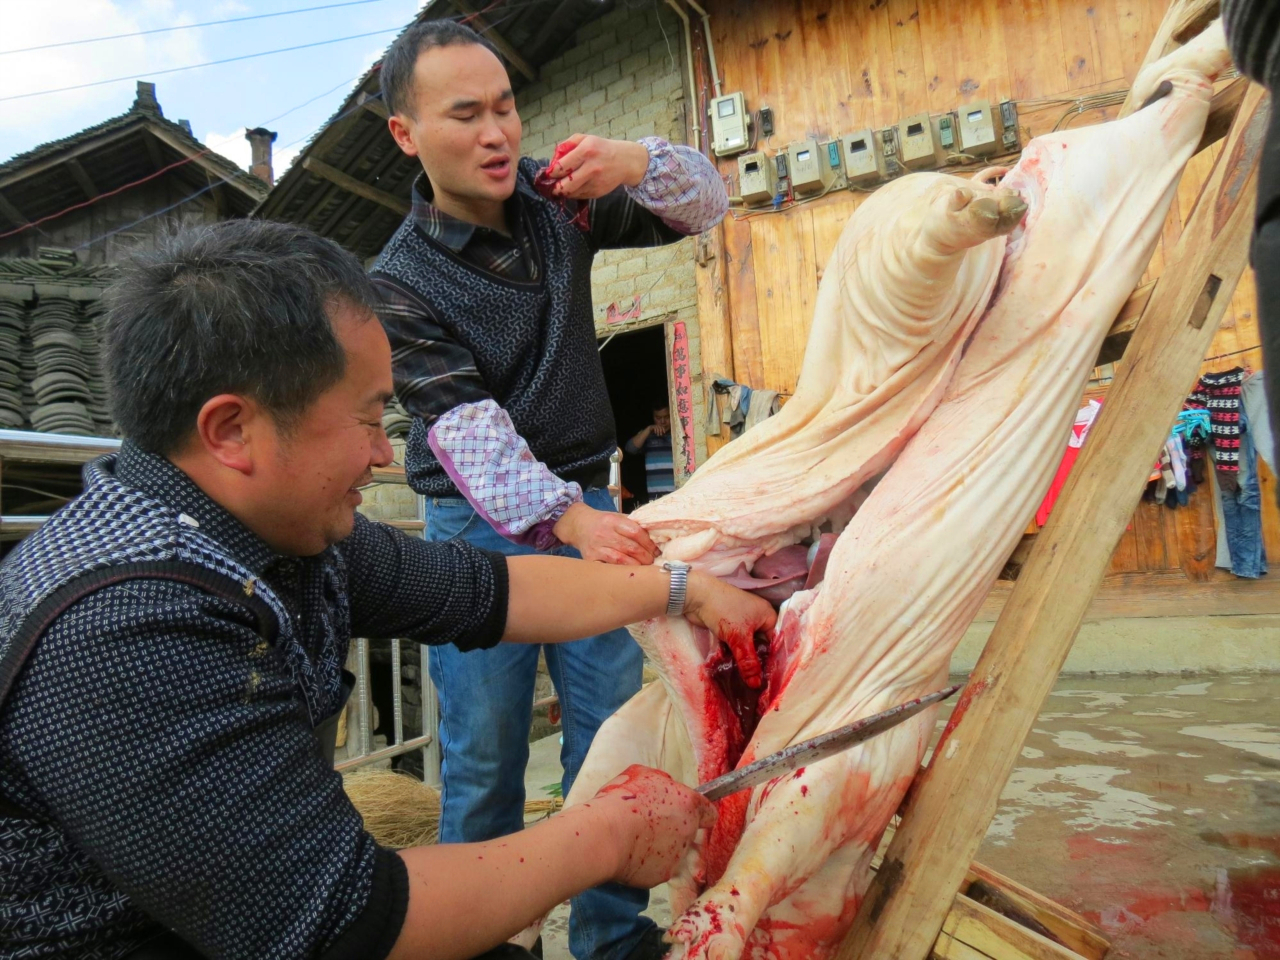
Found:
M 430 426 L 461 403 L 489 399 L 471 351 L 433 316 L 430 307 L 394 280 L 374 278 L 381 294 L 378 319 L 392 344 L 396 396 L 410 416 Z

